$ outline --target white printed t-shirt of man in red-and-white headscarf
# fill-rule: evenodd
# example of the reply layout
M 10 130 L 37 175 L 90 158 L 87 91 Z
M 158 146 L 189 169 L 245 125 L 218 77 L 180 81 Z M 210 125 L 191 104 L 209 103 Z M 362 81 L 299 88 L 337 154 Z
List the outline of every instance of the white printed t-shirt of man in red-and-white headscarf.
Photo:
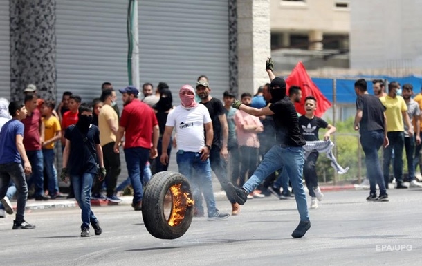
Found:
M 165 125 L 174 126 L 179 150 L 197 153 L 205 146 L 203 124 L 210 122 L 210 113 L 203 104 L 190 110 L 179 105 L 169 113 Z

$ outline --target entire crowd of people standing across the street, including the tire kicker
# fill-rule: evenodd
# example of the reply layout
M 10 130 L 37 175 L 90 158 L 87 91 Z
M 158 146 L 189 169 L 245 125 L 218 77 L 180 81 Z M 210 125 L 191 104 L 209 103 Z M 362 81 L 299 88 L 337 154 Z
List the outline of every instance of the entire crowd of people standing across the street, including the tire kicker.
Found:
M 300 224 L 292 236 L 304 236 L 311 223 L 302 178 L 311 197 L 309 208 L 316 209 L 324 197 L 318 186 L 316 161 L 320 152 L 332 148 L 330 136 L 336 127 L 314 115 L 318 102 L 312 95 L 304 99 L 306 113 L 296 112 L 301 88 L 291 86 L 287 93 L 284 79 L 273 74 L 271 59 L 266 62 L 266 72 L 270 83 L 260 87 L 256 95 L 242 93 L 236 99 L 232 91 L 225 91 L 223 102 L 211 96 L 206 76 L 198 77 L 195 88 L 184 85 L 178 89 L 179 106 L 173 105 L 172 91 L 165 82 L 160 82 L 155 92 L 150 83 L 143 84 L 141 92 L 134 86 L 119 89 L 124 106 L 121 112 L 109 82 L 102 84 L 100 97 L 89 103 L 66 91 L 57 108 L 55 102 L 41 99 L 33 84 L 24 90 L 23 104 L 0 99 L 0 217 L 14 212 L 10 199 L 16 193 L 13 229 L 35 228 L 24 220 L 27 197 L 64 197 L 59 191 L 59 176 L 69 182 L 67 197 L 75 198 L 82 211 L 81 236 L 90 236 L 90 225 L 99 235 L 102 228 L 91 200 L 120 202 L 121 191 L 130 185 L 132 207 L 140 211 L 144 187 L 154 173 L 167 171 L 171 151 L 177 149 L 178 171 L 192 184 L 194 216 L 205 216 L 203 200 L 208 220 L 230 216 L 216 206 L 213 171 L 232 205 L 231 215 L 238 215 L 240 205 L 248 199 L 272 194 L 281 200 L 294 197 Z M 407 188 L 403 184 L 403 147 L 410 187 L 421 187 L 414 173 L 421 151 L 422 95 L 412 99 L 410 84 L 401 87 L 391 82 L 388 94 L 382 80 L 373 84 L 375 95 L 369 95 L 365 80 L 356 81 L 354 129 L 360 131 L 366 155 L 367 200 L 388 201 L 392 158 L 396 188 Z M 320 129 L 327 129 L 323 140 Z M 59 141 L 63 156 L 60 173 L 55 167 Z M 381 146 L 383 169 L 378 159 Z M 117 184 L 121 150 L 128 177 Z M 331 160 L 338 173 L 347 171 L 333 155 Z

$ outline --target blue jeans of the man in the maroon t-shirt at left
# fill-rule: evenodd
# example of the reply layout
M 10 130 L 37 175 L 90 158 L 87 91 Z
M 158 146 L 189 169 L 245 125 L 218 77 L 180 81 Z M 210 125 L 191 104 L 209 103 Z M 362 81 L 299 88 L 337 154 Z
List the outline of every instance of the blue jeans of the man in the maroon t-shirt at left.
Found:
M 28 188 L 35 185 L 35 197 L 44 195 L 44 162 L 42 159 L 42 151 L 27 151 L 26 155 L 33 168 L 33 174 L 28 178 Z

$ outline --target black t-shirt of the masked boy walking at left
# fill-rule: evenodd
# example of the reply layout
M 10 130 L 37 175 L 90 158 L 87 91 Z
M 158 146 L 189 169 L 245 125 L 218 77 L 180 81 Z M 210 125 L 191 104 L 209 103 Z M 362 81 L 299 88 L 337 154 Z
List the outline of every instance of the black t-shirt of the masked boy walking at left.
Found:
M 71 175 L 97 173 L 98 159 L 95 144 L 100 144 L 98 127 L 91 124 L 88 133 L 84 135 L 72 125 L 66 129 L 64 137 L 71 142 L 71 153 L 67 163 L 69 173 Z

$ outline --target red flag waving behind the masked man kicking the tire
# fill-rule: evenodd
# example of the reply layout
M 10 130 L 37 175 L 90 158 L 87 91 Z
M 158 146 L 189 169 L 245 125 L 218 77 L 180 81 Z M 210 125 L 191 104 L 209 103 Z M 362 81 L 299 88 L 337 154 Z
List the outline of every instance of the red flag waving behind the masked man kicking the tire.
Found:
M 317 99 L 317 109 L 315 115 L 321 117 L 331 107 L 331 102 L 321 93 L 320 89 L 313 83 L 311 77 L 306 73 L 306 69 L 302 62 L 297 63 L 293 68 L 292 73 L 286 79 L 287 95 L 290 86 L 300 86 L 302 89 L 302 99 L 300 103 L 295 103 L 297 113 L 305 114 L 305 98 L 307 96 L 313 96 Z

